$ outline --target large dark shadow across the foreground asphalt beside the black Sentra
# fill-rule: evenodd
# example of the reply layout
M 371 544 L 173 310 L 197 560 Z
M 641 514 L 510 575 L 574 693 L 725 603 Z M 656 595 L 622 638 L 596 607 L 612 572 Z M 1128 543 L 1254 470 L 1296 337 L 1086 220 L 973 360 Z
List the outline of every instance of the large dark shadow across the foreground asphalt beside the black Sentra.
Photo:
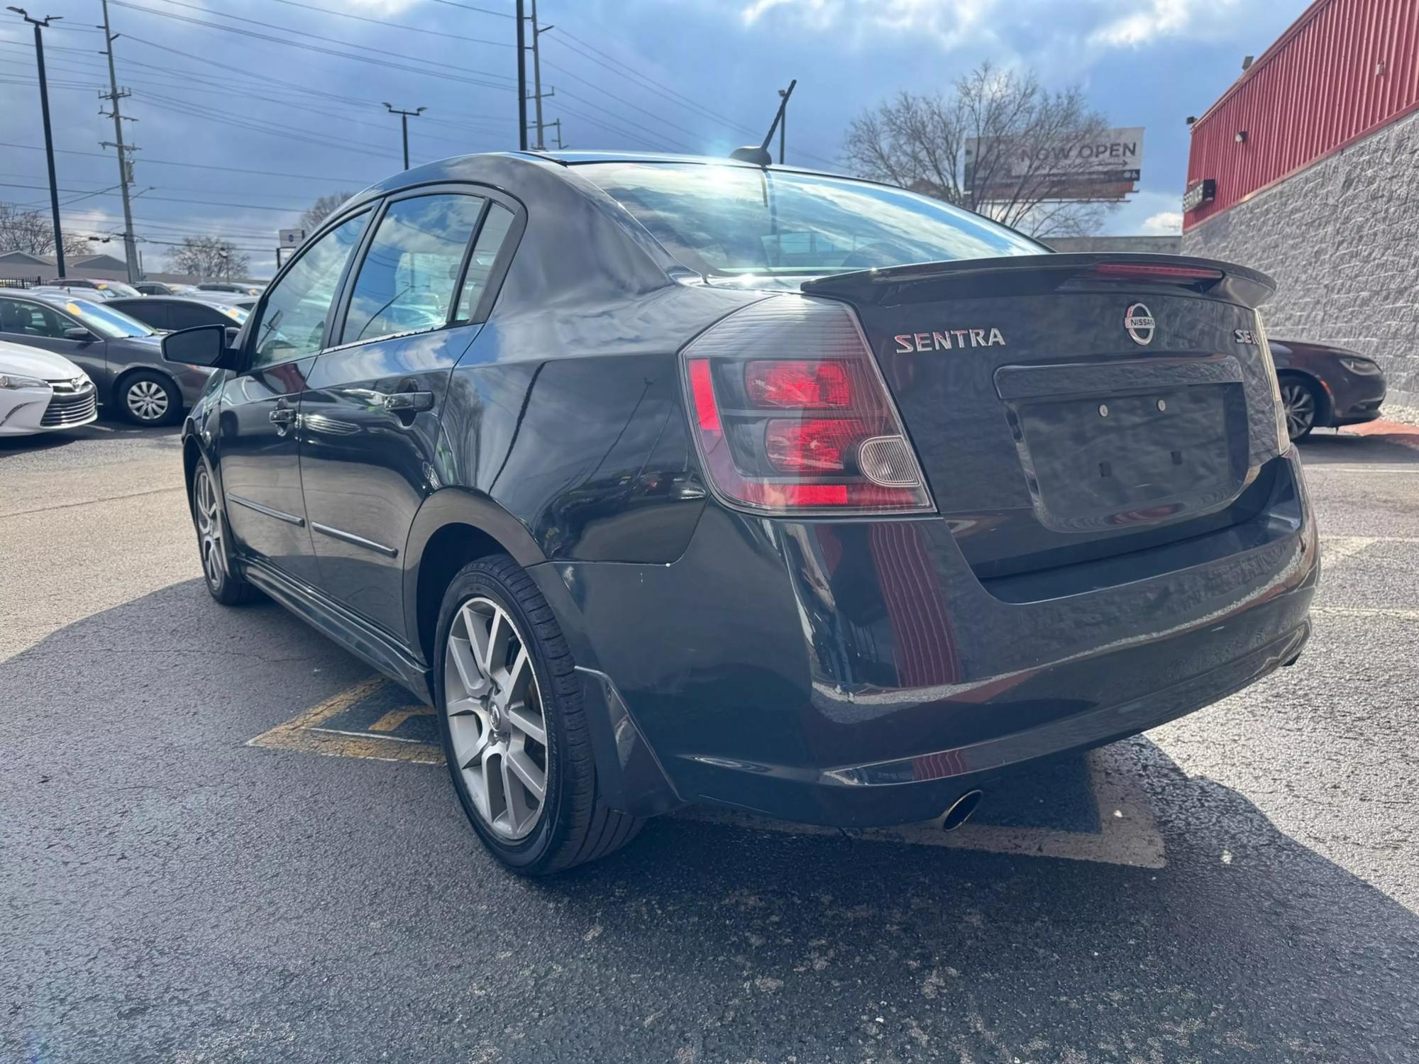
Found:
M 409 1031 L 420 1060 L 539 1064 L 1416 1058 L 1419 918 L 1145 738 L 1164 868 L 660 819 L 528 881 L 441 767 L 244 745 L 365 674 L 200 580 L 0 663 L 27 705 L 0 712 L 0 987 L 28 987 L 0 1033 L 114 1060 L 355 1060 Z

